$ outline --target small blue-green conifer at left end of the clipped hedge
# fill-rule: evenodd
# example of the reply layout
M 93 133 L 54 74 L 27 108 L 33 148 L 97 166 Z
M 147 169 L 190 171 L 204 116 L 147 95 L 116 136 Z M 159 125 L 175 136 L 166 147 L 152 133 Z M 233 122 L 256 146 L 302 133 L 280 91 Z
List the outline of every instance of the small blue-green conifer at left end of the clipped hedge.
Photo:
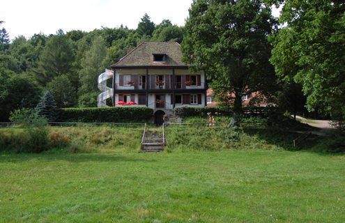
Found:
M 38 102 L 36 106 L 36 111 L 40 116 L 48 118 L 48 121 L 55 121 L 58 118 L 58 108 L 56 107 L 55 100 L 49 91 L 40 98 L 40 102 Z

